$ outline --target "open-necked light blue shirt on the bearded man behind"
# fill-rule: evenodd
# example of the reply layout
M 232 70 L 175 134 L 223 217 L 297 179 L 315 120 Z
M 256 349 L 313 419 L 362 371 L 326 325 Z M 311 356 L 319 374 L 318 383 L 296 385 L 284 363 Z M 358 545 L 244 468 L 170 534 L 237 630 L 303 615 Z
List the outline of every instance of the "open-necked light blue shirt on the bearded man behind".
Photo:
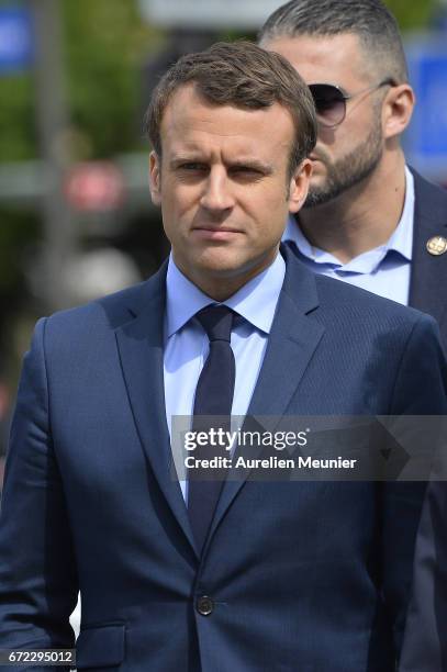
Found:
M 290 217 L 282 239 L 294 243 L 300 259 L 316 273 L 356 284 L 375 294 L 407 305 L 413 247 L 414 179 L 405 167 L 405 201 L 399 224 L 384 245 L 370 249 L 347 264 L 323 249 L 312 247 L 299 224 Z M 334 226 L 337 223 L 334 222 Z

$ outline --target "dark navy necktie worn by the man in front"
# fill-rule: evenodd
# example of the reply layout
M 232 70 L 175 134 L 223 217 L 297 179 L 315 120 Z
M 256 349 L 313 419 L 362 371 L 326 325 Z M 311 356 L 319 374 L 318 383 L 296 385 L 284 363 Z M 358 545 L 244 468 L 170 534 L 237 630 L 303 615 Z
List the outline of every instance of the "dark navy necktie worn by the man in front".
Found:
M 233 316 L 233 311 L 225 305 L 208 306 L 195 315 L 210 339 L 210 351 L 195 389 L 193 432 L 209 433 L 211 428 L 219 427 L 230 429 L 236 372 L 230 345 Z M 219 416 L 219 423 L 215 416 Z M 224 450 L 221 449 L 219 453 L 223 455 Z M 215 448 L 211 449 L 208 445 L 198 446 L 193 453 L 195 459 L 215 455 Z M 200 480 L 197 472 L 189 479 L 188 512 L 199 552 L 202 551 L 222 489 L 222 480 L 213 479 L 213 475 L 219 478 L 219 472 L 208 470 L 209 480 Z

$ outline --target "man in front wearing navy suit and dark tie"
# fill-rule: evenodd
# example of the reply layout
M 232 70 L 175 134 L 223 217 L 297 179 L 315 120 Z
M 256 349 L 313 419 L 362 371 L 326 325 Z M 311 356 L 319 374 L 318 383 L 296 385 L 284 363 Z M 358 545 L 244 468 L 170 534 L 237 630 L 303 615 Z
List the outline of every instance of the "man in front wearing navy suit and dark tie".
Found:
M 233 354 L 233 414 L 260 423 L 442 414 L 435 322 L 279 254 L 316 131 L 280 56 L 185 56 L 147 128 L 172 254 L 147 282 L 36 326 L 1 514 L 0 649 L 72 647 L 80 590 L 78 670 L 392 672 L 424 485 L 247 472 L 195 511 L 212 514 L 199 544 L 171 418 L 195 417 L 216 351 Z M 205 333 L 216 310 L 230 335 Z

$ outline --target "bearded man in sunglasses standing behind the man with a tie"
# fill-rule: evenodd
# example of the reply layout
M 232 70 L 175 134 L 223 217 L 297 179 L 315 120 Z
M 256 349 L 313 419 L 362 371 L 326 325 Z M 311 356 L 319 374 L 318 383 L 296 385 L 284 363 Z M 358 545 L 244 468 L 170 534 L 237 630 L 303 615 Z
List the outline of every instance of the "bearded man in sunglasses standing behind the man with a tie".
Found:
M 284 239 L 315 272 L 431 313 L 447 347 L 447 193 L 405 165 L 414 93 L 380 0 L 292 0 L 260 31 L 312 91 L 319 142 Z

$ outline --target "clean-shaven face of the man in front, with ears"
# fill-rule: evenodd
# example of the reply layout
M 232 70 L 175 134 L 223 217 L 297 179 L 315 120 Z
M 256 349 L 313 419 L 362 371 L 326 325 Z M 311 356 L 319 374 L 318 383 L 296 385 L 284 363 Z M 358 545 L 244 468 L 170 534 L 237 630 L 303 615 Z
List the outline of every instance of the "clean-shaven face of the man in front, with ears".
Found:
M 177 266 L 213 298 L 231 295 L 271 264 L 289 210 L 305 200 L 310 161 L 288 178 L 293 138 L 292 119 L 278 103 L 213 105 L 192 85 L 172 94 L 163 158 L 150 155 L 152 198 Z

